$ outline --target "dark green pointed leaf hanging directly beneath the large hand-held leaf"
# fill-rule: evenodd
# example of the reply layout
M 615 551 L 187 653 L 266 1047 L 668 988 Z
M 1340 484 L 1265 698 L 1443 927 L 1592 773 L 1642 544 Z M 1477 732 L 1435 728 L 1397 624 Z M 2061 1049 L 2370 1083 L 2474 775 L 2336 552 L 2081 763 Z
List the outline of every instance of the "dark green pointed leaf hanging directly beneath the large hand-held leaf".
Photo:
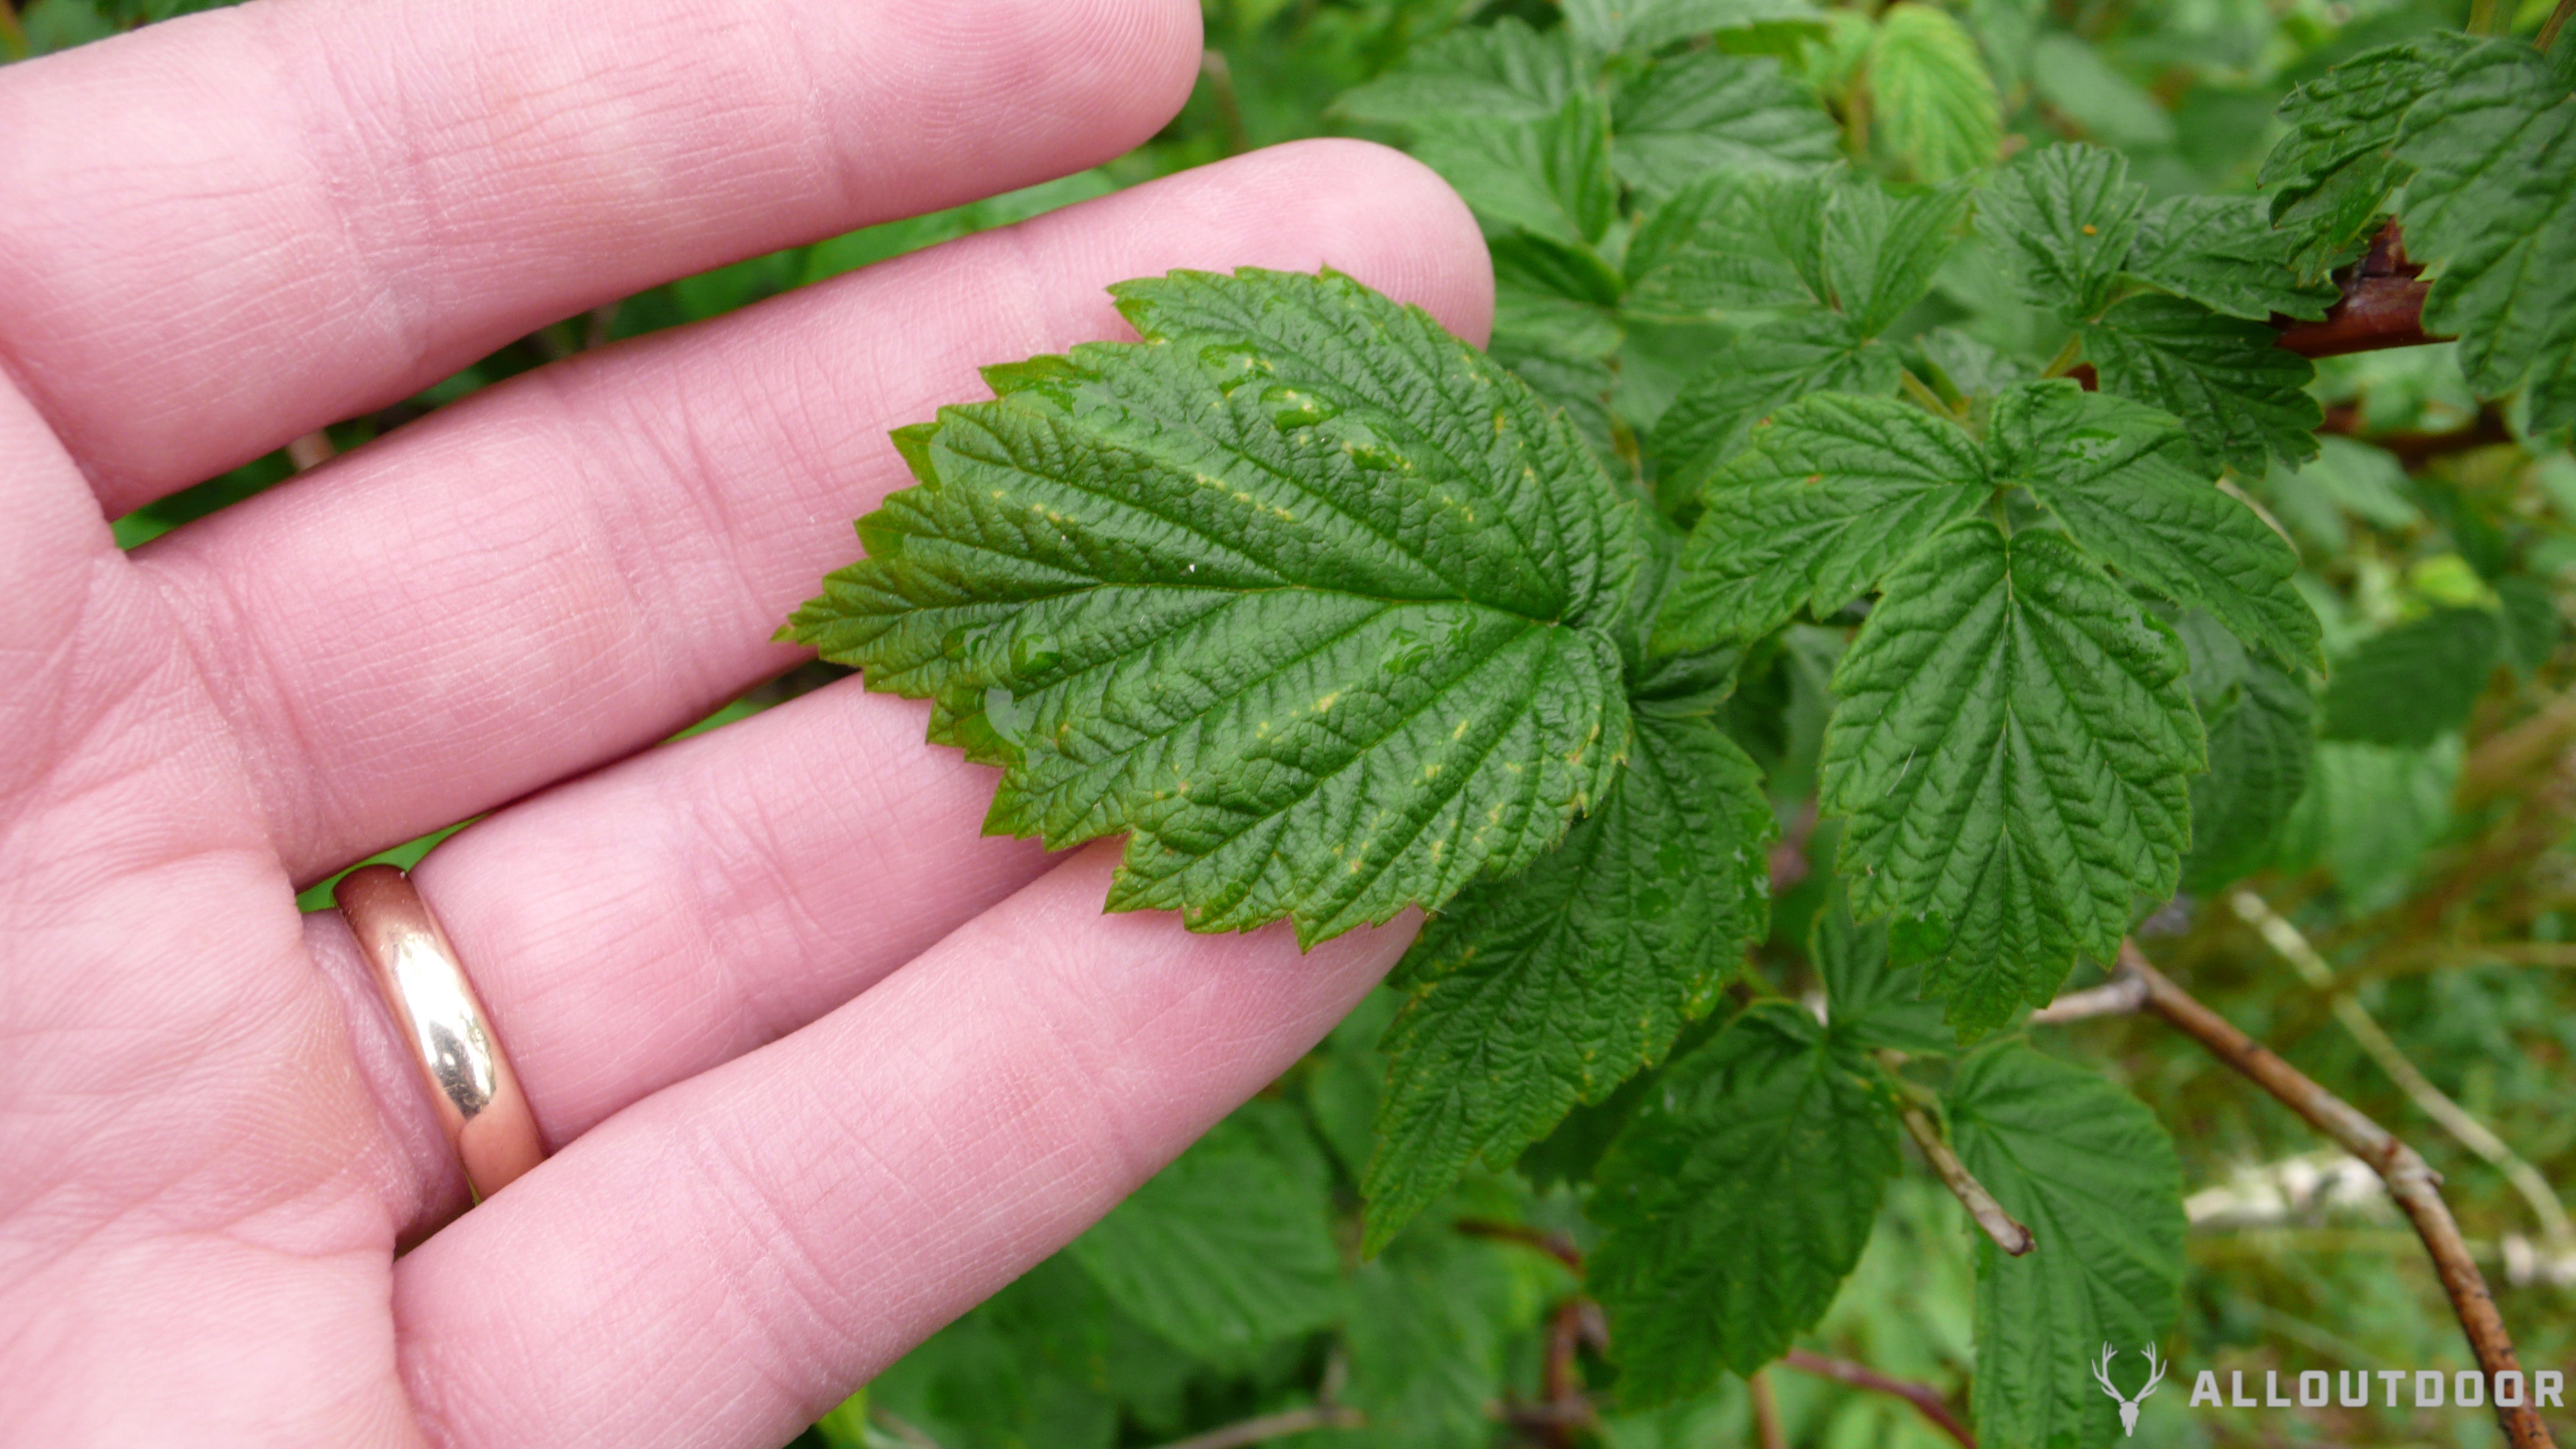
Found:
M 1383 1044 L 1363 1250 L 1468 1160 L 1512 1165 L 1708 1013 L 1765 931 L 1772 835 L 1744 750 L 1708 717 L 1646 706 L 1618 786 L 1564 846 L 1422 928 L 1396 967 L 1412 998 Z

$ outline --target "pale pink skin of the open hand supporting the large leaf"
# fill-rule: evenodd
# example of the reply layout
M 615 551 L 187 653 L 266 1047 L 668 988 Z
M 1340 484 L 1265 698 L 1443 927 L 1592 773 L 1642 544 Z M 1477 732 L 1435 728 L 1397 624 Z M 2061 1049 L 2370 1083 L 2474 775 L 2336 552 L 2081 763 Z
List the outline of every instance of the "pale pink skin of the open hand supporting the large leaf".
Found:
M 1337 266 L 1481 340 L 1463 206 L 1247 155 L 108 518 L 554 317 L 1144 142 L 1195 0 L 258 0 L 0 70 L 0 1439 L 778 1444 L 1285 1070 L 1412 923 L 1100 915 L 1115 846 L 842 681 L 654 740 L 1103 284 Z M 340 920 L 417 871 L 554 1152 L 466 1212 Z M 404 1250 L 407 1248 L 407 1250 Z M 397 1256 L 399 1250 L 399 1256 Z

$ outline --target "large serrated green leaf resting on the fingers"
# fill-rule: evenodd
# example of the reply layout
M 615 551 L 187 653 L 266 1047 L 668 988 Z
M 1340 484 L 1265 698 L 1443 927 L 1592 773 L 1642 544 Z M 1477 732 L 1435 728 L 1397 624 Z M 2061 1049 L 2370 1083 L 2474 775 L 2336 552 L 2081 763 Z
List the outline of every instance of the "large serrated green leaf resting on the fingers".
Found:
M 788 634 L 933 699 L 989 828 L 1131 833 L 1113 910 L 1321 941 L 1546 853 L 1628 748 L 1636 505 L 1517 376 L 1342 276 L 1115 289 L 1144 343 L 899 441 Z

